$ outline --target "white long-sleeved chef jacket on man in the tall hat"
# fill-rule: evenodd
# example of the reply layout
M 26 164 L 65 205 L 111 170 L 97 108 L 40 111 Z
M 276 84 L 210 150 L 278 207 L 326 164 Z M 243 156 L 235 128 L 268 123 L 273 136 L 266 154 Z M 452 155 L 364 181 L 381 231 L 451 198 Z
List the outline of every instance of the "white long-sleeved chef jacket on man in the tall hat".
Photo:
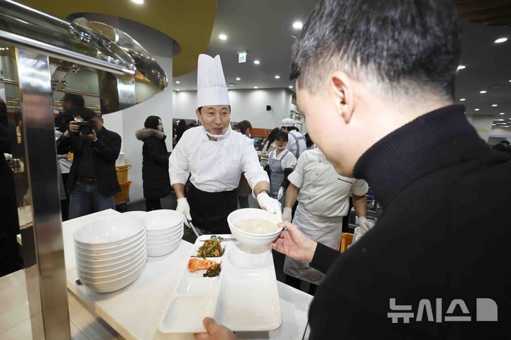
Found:
M 251 188 L 260 181 L 269 182 L 253 140 L 233 130 L 228 133 L 214 141 L 209 140 L 202 126 L 186 130 L 170 154 L 170 183 L 185 184 L 191 174 L 190 181 L 196 188 L 219 193 L 238 188 L 243 172 Z

